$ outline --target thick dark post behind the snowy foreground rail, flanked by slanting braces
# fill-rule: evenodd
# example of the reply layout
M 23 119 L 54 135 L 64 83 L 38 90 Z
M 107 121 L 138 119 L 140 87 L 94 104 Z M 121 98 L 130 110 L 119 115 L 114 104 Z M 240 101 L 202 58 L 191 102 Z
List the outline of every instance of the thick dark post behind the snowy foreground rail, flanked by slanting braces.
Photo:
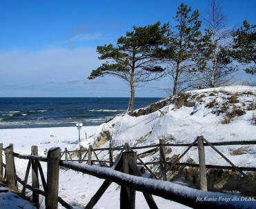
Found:
M 123 152 L 122 158 L 123 158 L 123 172 L 129 174 L 130 173 L 129 161 L 133 161 L 133 163 L 137 164 L 137 152 L 133 152 L 133 151 Z M 135 209 L 135 195 L 136 195 L 136 190 L 132 190 L 131 188 L 126 188 L 125 186 L 121 186 L 120 208 Z

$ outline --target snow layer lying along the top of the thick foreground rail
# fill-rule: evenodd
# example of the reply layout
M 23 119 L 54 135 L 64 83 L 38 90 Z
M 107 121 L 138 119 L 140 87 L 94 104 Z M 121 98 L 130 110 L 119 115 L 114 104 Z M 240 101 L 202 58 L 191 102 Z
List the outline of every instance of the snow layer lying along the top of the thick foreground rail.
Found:
M 74 163 L 74 162 L 63 162 L 64 165 L 66 166 L 72 166 L 72 168 L 75 168 L 77 170 L 79 169 L 84 169 L 86 170 L 85 173 L 90 173 L 93 172 L 95 176 L 99 178 L 104 178 L 104 177 L 111 177 L 112 181 L 115 181 L 114 179 L 121 179 L 125 181 L 123 186 L 129 185 L 129 184 L 134 184 L 137 189 L 139 189 L 139 186 L 144 186 L 153 194 L 157 196 L 163 195 L 164 198 L 166 199 L 172 199 L 175 200 L 176 198 L 181 201 L 180 198 L 182 198 L 182 201 L 187 201 L 187 200 L 196 200 L 197 197 L 207 197 L 209 199 L 212 199 L 208 201 L 210 202 L 215 202 L 213 199 L 229 199 L 227 203 L 230 204 L 229 206 L 235 206 L 239 208 L 255 208 L 256 205 L 253 201 L 248 201 L 246 203 L 243 203 L 242 201 L 231 201 L 234 196 L 233 195 L 224 195 L 222 193 L 218 192 L 205 192 L 202 190 L 195 190 L 193 188 L 187 188 L 185 186 L 180 186 L 175 183 L 171 183 L 169 181 L 160 181 L 156 179 L 147 179 L 144 177 L 135 177 L 131 175 L 127 175 L 122 172 L 118 172 L 116 170 L 113 170 L 111 168 L 99 168 L 95 166 L 88 166 L 86 164 L 81 165 L 80 163 Z M 172 195 L 165 195 L 164 192 L 160 194 L 161 191 L 168 191 Z M 159 192 L 160 191 L 160 192 Z M 203 203 L 203 201 L 201 201 Z M 217 203 L 221 204 L 221 201 L 218 201 Z M 222 203 L 223 204 L 223 203 Z

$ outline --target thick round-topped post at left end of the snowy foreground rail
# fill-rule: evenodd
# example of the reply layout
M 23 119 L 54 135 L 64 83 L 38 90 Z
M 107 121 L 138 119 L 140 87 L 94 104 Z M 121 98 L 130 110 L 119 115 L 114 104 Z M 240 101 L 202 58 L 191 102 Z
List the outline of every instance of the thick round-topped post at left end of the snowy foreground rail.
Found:
M 60 148 L 50 148 L 47 155 L 46 209 L 58 208 Z

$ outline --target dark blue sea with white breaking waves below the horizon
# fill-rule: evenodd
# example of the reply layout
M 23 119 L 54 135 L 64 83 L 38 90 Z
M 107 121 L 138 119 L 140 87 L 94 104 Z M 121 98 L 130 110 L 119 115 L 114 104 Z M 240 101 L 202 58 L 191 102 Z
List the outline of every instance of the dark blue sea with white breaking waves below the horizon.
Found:
M 161 98 L 135 98 L 134 109 Z M 0 129 L 99 126 L 128 108 L 129 98 L 0 98 Z

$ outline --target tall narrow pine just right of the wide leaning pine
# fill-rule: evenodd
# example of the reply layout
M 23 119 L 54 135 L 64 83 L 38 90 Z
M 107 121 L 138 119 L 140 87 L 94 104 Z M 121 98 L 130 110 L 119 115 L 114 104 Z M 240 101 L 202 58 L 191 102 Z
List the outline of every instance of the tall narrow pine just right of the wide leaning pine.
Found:
M 208 57 L 210 36 L 200 31 L 199 11 L 192 12 L 184 3 L 178 7 L 177 26 L 170 27 L 166 50 L 161 52 L 168 66 L 170 79 L 173 81 L 174 95 L 187 88 L 195 86 L 197 74 L 204 70 Z

